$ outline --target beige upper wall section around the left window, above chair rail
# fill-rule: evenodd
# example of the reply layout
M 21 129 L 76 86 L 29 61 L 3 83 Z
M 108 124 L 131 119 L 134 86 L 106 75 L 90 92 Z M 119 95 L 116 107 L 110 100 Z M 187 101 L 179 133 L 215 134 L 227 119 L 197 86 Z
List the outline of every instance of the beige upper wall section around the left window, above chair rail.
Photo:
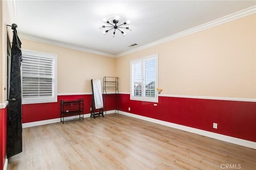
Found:
M 115 76 L 115 59 L 20 39 L 22 49 L 57 54 L 57 93 L 91 93 L 91 79 Z

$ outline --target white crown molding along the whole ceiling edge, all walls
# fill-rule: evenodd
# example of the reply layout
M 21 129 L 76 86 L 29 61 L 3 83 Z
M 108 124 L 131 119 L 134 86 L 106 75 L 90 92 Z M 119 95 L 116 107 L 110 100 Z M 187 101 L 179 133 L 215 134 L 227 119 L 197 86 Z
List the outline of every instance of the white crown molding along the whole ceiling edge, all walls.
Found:
M 8 0 L 9 2 L 10 0 Z M 16 5 L 15 5 L 16 6 Z M 15 8 L 16 9 L 16 8 Z M 15 16 L 16 14 L 14 14 L 15 10 L 12 10 L 12 14 L 11 16 Z M 238 12 L 235 12 L 233 14 L 230 14 L 230 15 L 227 15 L 227 16 L 224 16 L 222 18 L 218 18 L 216 20 L 213 20 L 213 21 L 210 21 L 210 22 L 207 22 L 205 24 L 202 24 L 200 26 L 196 26 L 194 28 L 190 28 L 188 30 L 185 30 L 183 32 L 179 32 L 177 34 L 174 34 L 172 36 L 168 36 L 166 38 L 162 38 L 160 40 L 157 40 L 155 42 L 152 42 L 152 43 L 148 43 L 146 45 L 142 45 L 140 47 L 137 47 L 137 48 L 134 48 L 134 49 L 131 49 L 131 50 L 128 50 L 128 51 L 125 51 L 123 53 L 119 53 L 117 55 L 113 55 L 113 54 L 109 54 L 109 53 L 104 53 L 104 52 L 100 52 L 100 51 L 95 51 L 95 50 L 92 50 L 92 49 L 87 49 L 87 48 L 83 48 L 83 47 L 78 47 L 78 46 L 75 46 L 75 45 L 70 45 L 70 44 L 66 44 L 66 43 L 61 43 L 61 42 L 56 42 L 56 41 L 52 41 L 52 40 L 47 40 L 47 39 L 44 39 L 44 38 L 39 38 L 39 37 L 35 37 L 35 36 L 30 36 L 30 35 L 26 35 L 26 34 L 22 34 L 22 33 L 19 33 L 19 37 L 20 38 L 23 38 L 23 39 L 26 39 L 26 40 L 32 40 L 32 41 L 35 41 L 35 42 L 41 42 L 41 43 L 47 43 L 47 44 L 50 44 L 50 45 L 57 45 L 57 46 L 60 46 L 60 47 L 66 47 L 66 48 L 70 48 L 70 49 L 75 49 L 75 50 L 78 50 L 78 51 L 84 51 L 84 52 L 88 52 L 88 53 L 94 53 L 94 54 L 99 54 L 99 55 L 103 55 L 103 56 L 106 56 L 106 57 L 114 57 L 114 58 L 117 58 L 117 57 L 122 57 L 124 55 L 127 55 L 127 54 L 130 54 L 130 53 L 134 53 L 136 51 L 140 51 L 142 49 L 146 49 L 146 48 L 149 48 L 149 47 L 153 47 L 155 45 L 159 45 L 161 43 L 164 43 L 164 42 L 168 42 L 168 41 L 171 41 L 171 40 L 175 40 L 177 38 L 181 38 L 181 37 L 184 37 L 184 36 L 187 36 L 189 34 L 194 34 L 196 32 L 200 32 L 202 30 L 206 30 L 208 28 L 212 28 L 214 26 L 218 26 L 218 25 L 221 25 L 221 24 L 225 24 L 226 22 L 230 22 L 230 21 L 233 21 L 233 20 L 237 20 L 239 18 L 242 18 L 242 17 L 245 17 L 245 16 L 249 16 L 251 14 L 254 14 L 256 13 L 256 6 L 252 6 L 250 8 L 246 8 L 244 10 L 241 10 L 241 11 L 238 11 Z

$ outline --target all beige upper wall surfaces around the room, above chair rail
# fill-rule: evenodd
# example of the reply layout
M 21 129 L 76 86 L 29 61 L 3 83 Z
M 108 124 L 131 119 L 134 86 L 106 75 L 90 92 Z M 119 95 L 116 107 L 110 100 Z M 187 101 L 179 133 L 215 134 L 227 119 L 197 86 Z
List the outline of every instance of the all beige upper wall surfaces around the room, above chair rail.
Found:
M 9 18 L 1 3 L 1 14 Z M 0 103 L 6 101 L 6 24 L 10 24 L 2 18 Z M 158 53 L 162 94 L 256 98 L 255 14 L 116 59 L 21 41 L 22 49 L 58 55 L 58 93 L 90 93 L 90 79 L 104 76 L 119 77 L 119 91 L 129 93 L 130 60 Z

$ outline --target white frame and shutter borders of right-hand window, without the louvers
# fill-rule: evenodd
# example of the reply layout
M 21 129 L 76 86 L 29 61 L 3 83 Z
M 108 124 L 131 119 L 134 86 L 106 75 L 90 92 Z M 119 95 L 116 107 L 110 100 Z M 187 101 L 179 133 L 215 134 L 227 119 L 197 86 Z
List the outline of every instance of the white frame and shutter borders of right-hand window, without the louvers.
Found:
M 144 66 L 144 62 L 145 61 L 150 61 L 154 59 L 155 60 L 155 97 L 146 97 L 143 96 L 144 95 L 144 89 L 145 89 L 145 80 L 143 80 L 143 75 L 145 73 L 145 69 L 143 68 Z M 141 89 L 141 96 L 134 96 L 133 93 L 134 91 L 132 90 L 132 64 L 135 63 L 141 63 L 141 81 L 142 81 L 142 89 Z M 142 57 L 139 59 L 134 59 L 130 61 L 130 100 L 136 100 L 136 101 L 147 101 L 147 102 L 154 102 L 154 103 L 158 103 L 158 91 L 156 90 L 156 88 L 158 88 L 158 54 L 154 54 L 154 55 L 150 55 L 147 57 Z

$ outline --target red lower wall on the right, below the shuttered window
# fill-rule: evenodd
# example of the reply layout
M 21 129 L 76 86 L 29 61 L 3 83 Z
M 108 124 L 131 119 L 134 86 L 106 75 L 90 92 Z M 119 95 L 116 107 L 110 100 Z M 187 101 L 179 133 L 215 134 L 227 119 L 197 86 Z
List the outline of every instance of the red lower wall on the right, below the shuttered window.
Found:
M 154 104 L 120 96 L 121 111 L 256 142 L 255 102 L 159 97 Z

